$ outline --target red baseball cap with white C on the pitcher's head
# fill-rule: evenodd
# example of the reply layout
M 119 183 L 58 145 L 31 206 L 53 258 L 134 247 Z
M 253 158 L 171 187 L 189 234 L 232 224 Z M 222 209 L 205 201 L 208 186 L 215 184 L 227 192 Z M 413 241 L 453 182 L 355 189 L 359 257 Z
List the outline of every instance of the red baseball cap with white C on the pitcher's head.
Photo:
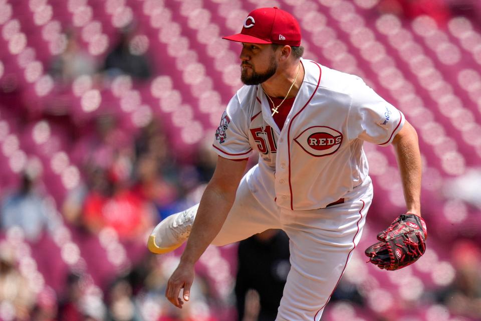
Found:
M 290 13 L 274 8 L 252 11 L 244 21 L 240 34 L 222 37 L 236 42 L 252 44 L 301 45 L 301 28 Z

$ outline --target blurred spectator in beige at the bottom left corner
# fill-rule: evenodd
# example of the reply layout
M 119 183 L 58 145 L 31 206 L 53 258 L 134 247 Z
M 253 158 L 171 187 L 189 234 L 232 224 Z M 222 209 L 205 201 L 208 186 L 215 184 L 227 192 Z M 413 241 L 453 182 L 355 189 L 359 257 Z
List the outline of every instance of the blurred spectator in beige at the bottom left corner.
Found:
M 12 309 L 16 320 L 29 320 L 35 296 L 28 280 L 15 267 L 16 260 L 10 245 L 0 243 L 0 302 L 2 308 Z

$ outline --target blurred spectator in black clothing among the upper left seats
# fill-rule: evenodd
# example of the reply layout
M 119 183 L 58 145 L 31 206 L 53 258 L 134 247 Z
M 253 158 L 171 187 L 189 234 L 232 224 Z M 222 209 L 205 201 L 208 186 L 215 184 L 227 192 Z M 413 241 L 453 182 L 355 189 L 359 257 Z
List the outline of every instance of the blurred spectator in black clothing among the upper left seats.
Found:
M 117 45 L 105 59 L 104 70 L 108 76 L 127 74 L 139 80 L 151 77 L 150 62 L 141 48 L 142 45 L 132 42 L 134 36 L 132 26 L 122 29 Z

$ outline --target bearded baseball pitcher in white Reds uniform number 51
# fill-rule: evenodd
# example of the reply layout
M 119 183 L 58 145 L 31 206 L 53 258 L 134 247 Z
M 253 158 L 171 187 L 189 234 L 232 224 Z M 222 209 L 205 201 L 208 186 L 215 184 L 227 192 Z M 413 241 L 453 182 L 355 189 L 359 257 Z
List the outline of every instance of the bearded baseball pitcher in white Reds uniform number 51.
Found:
M 366 255 L 393 270 L 424 253 L 417 134 L 401 111 L 359 77 L 303 59 L 301 30 L 291 14 L 261 8 L 242 23 L 239 34 L 224 37 L 240 43 L 245 85 L 215 133 L 215 173 L 200 203 L 160 222 L 148 247 L 162 254 L 187 240 L 165 293 L 182 307 L 194 264 L 209 244 L 283 229 L 291 270 L 276 320 L 319 321 L 371 205 L 364 143 L 393 145 L 406 201 L 406 212 L 379 233 Z M 244 175 L 254 150 L 259 163 Z

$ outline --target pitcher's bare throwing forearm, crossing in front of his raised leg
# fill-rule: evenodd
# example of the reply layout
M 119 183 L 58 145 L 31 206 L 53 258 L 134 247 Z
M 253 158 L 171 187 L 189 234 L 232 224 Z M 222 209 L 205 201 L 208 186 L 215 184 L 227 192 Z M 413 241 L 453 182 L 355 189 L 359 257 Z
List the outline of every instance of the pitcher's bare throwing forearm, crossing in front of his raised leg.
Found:
M 202 195 L 181 263 L 194 264 L 219 233 L 235 199 L 235 191 L 208 185 Z

